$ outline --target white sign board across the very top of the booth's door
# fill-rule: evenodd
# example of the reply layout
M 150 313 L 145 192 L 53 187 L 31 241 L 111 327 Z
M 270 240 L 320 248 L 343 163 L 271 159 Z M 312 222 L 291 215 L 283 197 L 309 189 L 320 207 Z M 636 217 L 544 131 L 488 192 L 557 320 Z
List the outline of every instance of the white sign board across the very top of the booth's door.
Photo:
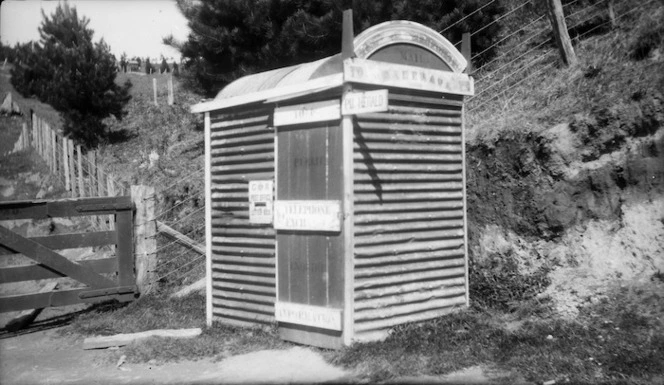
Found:
M 324 100 L 274 109 L 275 126 L 337 119 L 341 119 L 341 106 L 338 100 Z

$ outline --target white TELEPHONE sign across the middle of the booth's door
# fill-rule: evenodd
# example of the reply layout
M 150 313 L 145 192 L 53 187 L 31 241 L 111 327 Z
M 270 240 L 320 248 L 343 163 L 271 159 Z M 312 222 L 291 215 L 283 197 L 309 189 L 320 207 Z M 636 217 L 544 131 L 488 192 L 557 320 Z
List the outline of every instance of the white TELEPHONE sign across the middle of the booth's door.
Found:
M 341 231 L 340 201 L 275 201 L 277 230 Z

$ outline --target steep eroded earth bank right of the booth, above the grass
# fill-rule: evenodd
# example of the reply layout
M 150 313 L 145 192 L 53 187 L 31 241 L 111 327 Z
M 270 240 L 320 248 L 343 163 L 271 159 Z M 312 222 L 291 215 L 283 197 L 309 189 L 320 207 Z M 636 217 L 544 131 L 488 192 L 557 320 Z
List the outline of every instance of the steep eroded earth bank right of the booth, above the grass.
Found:
M 651 3 L 577 41 L 578 65 L 547 59 L 542 67 L 554 65 L 504 97 L 471 101 L 468 213 L 480 283 L 514 263 L 550 283 L 563 316 L 624 285 L 664 292 L 663 19 Z M 485 284 L 475 287 L 496 282 Z

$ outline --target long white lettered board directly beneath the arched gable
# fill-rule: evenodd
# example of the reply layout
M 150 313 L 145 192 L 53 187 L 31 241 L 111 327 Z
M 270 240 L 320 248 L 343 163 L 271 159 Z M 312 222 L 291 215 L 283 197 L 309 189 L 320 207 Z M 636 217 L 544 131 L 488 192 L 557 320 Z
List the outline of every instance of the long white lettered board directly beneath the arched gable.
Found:
M 362 59 L 344 61 L 344 79 L 356 83 L 457 95 L 475 93 L 473 79 L 466 74 Z

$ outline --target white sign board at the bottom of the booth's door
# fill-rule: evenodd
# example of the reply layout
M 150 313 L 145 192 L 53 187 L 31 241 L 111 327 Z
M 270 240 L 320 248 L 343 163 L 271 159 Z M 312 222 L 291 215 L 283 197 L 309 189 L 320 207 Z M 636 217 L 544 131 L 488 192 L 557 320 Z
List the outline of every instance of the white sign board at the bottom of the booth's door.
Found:
M 274 318 L 279 322 L 313 326 L 321 329 L 341 330 L 341 309 L 276 302 Z

